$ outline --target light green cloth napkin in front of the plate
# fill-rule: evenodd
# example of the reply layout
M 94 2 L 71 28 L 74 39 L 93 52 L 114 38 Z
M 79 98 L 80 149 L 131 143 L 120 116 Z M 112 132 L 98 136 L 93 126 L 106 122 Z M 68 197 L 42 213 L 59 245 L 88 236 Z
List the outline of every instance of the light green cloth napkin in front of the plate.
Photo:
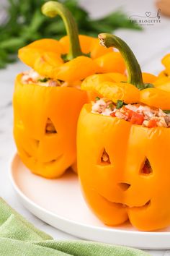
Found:
M 0 198 L 1 256 L 147 256 L 139 249 L 86 241 L 55 241 Z

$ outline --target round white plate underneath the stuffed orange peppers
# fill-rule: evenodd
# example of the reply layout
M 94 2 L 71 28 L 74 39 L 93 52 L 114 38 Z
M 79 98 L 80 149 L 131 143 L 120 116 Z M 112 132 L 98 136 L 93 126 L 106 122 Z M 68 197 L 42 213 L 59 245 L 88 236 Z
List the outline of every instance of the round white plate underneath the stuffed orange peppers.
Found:
M 89 210 L 73 171 L 59 179 L 44 179 L 27 169 L 16 154 L 10 178 L 23 205 L 42 221 L 82 239 L 140 249 L 170 249 L 170 227 L 156 232 L 134 229 L 130 223 L 104 226 Z

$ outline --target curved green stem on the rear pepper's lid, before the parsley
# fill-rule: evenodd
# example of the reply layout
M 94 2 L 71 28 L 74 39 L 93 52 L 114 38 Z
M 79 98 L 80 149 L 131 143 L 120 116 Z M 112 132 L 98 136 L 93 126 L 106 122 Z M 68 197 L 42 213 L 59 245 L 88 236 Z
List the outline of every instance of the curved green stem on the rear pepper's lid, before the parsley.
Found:
M 76 58 L 76 56 L 82 55 L 78 28 L 71 12 L 63 4 L 56 1 L 48 1 L 42 5 L 42 14 L 51 18 L 56 15 L 61 16 L 66 27 L 66 33 L 68 35 L 70 45 L 66 59 L 71 60 Z

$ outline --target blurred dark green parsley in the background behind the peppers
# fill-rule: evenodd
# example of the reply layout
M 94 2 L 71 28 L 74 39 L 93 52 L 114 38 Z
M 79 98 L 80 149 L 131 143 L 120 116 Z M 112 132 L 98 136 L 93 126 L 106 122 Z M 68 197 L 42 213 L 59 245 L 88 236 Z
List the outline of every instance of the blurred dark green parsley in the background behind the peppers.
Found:
M 93 20 L 79 5 L 78 0 L 60 1 L 66 4 L 75 17 L 79 33 L 97 37 L 99 33 L 112 33 L 117 28 L 141 28 L 121 11 L 112 12 L 101 19 Z M 61 38 L 66 35 L 60 17 L 53 20 L 41 13 L 45 0 L 8 0 L 6 19 L 0 25 L 0 68 L 17 60 L 17 50 L 40 38 Z M 4 11 L 5 12 L 5 11 Z

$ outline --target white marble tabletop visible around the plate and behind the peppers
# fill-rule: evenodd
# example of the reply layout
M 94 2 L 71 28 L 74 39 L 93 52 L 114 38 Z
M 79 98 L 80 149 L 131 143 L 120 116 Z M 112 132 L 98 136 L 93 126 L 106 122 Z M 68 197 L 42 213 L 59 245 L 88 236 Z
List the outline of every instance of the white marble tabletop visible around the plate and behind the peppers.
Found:
M 89 9 L 92 16 L 106 14 L 112 9 L 123 7 L 128 14 L 143 14 L 144 12 L 156 12 L 153 0 L 81 0 L 81 3 Z M 170 20 L 161 17 L 161 24 L 146 26 L 143 32 L 131 30 L 119 30 L 117 35 L 124 38 L 133 48 L 138 61 L 142 64 L 143 71 L 157 74 L 163 69 L 161 58 L 164 54 L 170 52 Z M 101 31 L 104 32 L 104 31 Z M 14 190 L 9 182 L 8 169 L 9 159 L 12 158 L 15 146 L 12 139 L 12 92 L 14 88 L 14 77 L 18 72 L 24 70 L 21 63 L 10 65 L 7 69 L 0 70 L 0 195 L 12 207 L 21 213 L 25 218 L 31 221 L 37 228 L 47 232 L 54 239 L 76 239 L 52 226 L 40 221 L 26 210 L 14 194 Z M 170 243 L 170 241 L 169 241 Z M 143 247 L 145 244 L 143 245 Z M 170 255 L 170 250 L 150 251 L 153 256 Z

